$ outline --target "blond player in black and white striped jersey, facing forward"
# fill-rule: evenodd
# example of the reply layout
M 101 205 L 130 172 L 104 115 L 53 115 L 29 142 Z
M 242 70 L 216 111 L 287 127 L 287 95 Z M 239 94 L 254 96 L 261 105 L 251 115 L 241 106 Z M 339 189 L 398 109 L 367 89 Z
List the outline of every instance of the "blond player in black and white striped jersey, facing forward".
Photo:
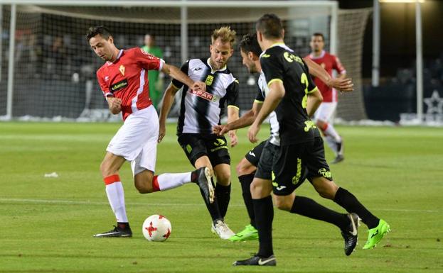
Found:
M 206 91 L 192 90 L 173 80 L 165 91 L 160 111 L 159 141 L 166 133 L 166 117 L 175 94 L 183 87 L 178 143 L 196 169 L 208 167 L 215 174 L 215 201 L 213 204 L 206 202 L 206 206 L 213 221 L 211 230 L 225 240 L 235 234 L 224 221 L 230 201 L 230 155 L 226 139 L 213 134 L 212 128 L 220 124 L 225 108 L 229 122 L 238 118 L 238 81 L 227 67 L 234 43 L 234 30 L 229 27 L 215 29 L 211 35 L 210 57 L 188 60 L 181 67 L 181 71 L 194 81 L 205 82 Z M 237 144 L 235 130 L 231 130 L 229 136 L 233 147 Z

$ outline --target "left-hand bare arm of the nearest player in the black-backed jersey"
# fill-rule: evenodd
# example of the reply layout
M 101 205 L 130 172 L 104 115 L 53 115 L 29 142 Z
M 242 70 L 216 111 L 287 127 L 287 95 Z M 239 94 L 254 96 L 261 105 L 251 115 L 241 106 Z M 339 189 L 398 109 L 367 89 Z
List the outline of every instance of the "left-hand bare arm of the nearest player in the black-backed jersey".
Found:
M 263 123 L 265 118 L 269 116 L 269 113 L 277 108 L 284 96 L 284 93 L 285 90 L 281 80 L 277 80 L 269 84 L 269 93 L 263 102 L 263 106 L 258 112 L 254 123 L 252 123 L 252 126 L 247 131 L 247 138 L 249 138 L 251 143 L 256 143 L 258 141 L 257 133 L 260 130 L 260 125 Z

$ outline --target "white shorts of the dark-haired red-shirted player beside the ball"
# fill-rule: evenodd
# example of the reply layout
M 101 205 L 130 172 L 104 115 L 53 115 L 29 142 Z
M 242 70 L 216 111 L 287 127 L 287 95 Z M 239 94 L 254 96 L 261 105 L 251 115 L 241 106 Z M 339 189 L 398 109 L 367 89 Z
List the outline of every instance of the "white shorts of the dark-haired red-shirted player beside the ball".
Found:
M 144 169 L 155 171 L 159 116 L 154 106 L 132 113 L 107 145 L 107 152 L 131 162 L 134 176 Z

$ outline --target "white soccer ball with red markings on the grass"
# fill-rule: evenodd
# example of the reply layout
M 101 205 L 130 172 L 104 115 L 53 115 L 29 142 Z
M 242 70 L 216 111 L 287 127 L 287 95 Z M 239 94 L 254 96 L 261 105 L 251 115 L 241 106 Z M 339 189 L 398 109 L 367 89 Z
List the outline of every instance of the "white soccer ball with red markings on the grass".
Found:
M 166 217 L 154 214 L 143 222 L 144 238 L 151 242 L 163 242 L 171 235 L 171 222 Z

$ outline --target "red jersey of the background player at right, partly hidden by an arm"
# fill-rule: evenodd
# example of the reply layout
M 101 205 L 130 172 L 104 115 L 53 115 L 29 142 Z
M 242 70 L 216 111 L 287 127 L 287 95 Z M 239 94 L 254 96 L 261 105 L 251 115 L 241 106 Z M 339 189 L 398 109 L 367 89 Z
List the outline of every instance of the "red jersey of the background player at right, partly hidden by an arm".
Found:
M 329 54 L 326 51 L 322 51 L 319 57 L 314 57 L 314 55 L 307 55 L 309 59 L 313 60 L 317 64 L 321 65 L 326 72 L 328 72 L 332 76 L 332 69 L 336 69 L 338 74 L 346 74 L 346 69 L 341 65 L 338 57 Z M 324 82 L 321 82 L 320 79 L 314 77 L 314 82 L 316 86 L 319 88 L 321 96 L 323 96 L 324 102 L 336 102 L 338 99 L 338 94 L 336 89 L 332 87 L 328 87 Z

